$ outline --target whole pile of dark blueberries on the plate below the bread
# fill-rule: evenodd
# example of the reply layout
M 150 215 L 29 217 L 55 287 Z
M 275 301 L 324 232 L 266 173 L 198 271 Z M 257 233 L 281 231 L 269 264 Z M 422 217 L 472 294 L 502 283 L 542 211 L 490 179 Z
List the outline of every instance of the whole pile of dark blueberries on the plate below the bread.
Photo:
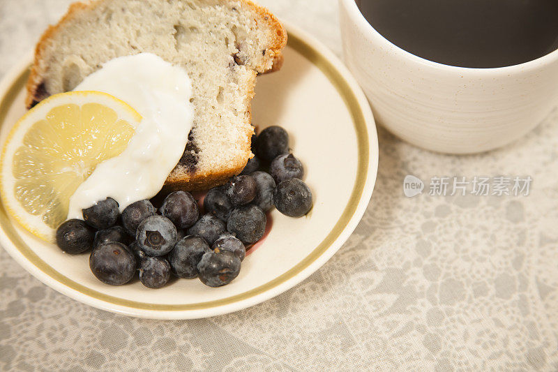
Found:
M 208 191 L 201 217 L 197 201 L 185 191 L 167 195 L 159 209 L 140 200 L 122 214 L 107 198 L 83 209 L 83 220 L 62 223 L 56 244 L 71 254 L 92 248 L 89 267 L 110 285 L 128 283 L 136 271 L 148 288 L 163 287 L 171 273 L 210 287 L 226 285 L 239 275 L 246 246 L 264 236 L 267 211 L 275 206 L 301 217 L 312 208 L 303 166 L 289 153 L 283 128 L 271 126 L 252 137 L 252 152 L 256 156 L 239 176 Z

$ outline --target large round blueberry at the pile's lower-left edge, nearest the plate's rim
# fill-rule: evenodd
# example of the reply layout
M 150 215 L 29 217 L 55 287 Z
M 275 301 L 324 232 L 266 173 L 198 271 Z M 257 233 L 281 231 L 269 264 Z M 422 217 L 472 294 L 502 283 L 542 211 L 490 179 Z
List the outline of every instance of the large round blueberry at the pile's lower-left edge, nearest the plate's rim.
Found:
M 103 283 L 122 285 L 135 274 L 135 255 L 122 243 L 96 246 L 89 256 L 91 272 Z

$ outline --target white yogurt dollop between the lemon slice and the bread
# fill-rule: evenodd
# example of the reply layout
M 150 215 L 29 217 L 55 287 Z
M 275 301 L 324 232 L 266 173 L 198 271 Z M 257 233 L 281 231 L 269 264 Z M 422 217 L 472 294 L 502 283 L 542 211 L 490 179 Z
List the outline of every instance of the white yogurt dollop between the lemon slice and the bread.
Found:
M 103 91 L 121 99 L 143 119 L 119 156 L 99 163 L 70 198 L 68 218 L 113 198 L 120 211 L 152 198 L 179 162 L 193 126 L 192 84 L 186 70 L 151 53 L 112 59 L 75 91 Z

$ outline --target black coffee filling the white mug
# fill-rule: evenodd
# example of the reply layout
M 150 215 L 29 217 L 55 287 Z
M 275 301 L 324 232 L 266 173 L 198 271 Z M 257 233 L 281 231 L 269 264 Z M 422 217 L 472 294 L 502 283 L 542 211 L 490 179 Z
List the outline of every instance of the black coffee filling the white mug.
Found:
M 382 36 L 418 57 L 490 68 L 558 49 L 558 0 L 356 0 Z

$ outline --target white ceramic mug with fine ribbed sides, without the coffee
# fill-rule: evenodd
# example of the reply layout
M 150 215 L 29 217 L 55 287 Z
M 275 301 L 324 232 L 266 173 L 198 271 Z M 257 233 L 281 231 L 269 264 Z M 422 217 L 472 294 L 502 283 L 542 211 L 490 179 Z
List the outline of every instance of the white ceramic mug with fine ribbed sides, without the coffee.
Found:
M 558 50 L 525 64 L 462 68 L 416 57 L 340 0 L 345 63 L 375 119 L 432 151 L 471 154 L 518 140 L 558 104 Z

